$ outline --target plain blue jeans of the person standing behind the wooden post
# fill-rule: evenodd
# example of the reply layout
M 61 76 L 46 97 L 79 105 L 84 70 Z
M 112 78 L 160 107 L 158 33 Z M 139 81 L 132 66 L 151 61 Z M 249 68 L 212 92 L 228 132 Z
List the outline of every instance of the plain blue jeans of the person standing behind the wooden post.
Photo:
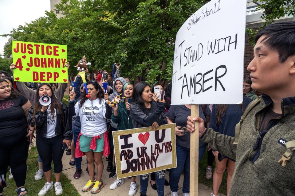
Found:
M 199 162 L 202 159 L 206 149 L 206 144 L 199 147 Z M 169 171 L 169 185 L 172 192 L 178 191 L 180 175 L 184 169 L 183 193 L 190 193 L 190 148 L 176 145 L 177 167 Z

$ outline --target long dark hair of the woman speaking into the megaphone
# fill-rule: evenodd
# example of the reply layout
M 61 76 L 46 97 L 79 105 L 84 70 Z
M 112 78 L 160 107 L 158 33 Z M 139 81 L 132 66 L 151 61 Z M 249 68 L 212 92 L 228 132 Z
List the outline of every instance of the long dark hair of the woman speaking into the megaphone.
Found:
M 41 104 L 39 102 L 39 89 L 42 87 L 42 86 L 48 86 L 51 90 L 51 103 L 50 103 L 50 110 L 51 110 L 51 115 L 53 116 L 54 115 L 54 109 L 56 110 L 59 110 L 59 113 L 61 114 L 61 117 L 62 117 L 62 121 L 63 121 L 63 110 L 62 110 L 62 106 L 61 106 L 61 102 L 56 98 L 55 94 L 54 94 L 54 91 L 50 85 L 50 83 L 41 83 L 38 87 L 37 87 L 37 91 L 36 91 L 36 98 L 34 100 L 34 111 L 33 111 L 33 119 L 35 119 L 35 114 L 36 112 L 40 112 L 41 111 Z M 35 121 L 36 122 L 36 121 Z

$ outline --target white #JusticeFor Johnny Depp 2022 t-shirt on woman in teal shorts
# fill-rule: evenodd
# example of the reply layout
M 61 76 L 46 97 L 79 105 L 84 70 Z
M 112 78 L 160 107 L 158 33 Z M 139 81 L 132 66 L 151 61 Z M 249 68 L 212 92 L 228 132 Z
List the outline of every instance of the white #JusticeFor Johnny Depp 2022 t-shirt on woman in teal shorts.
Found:
M 80 101 L 76 103 L 75 112 L 80 116 L 82 135 L 94 137 L 107 131 L 104 99 L 100 102 L 99 98 L 93 101 L 86 99 L 81 108 Z

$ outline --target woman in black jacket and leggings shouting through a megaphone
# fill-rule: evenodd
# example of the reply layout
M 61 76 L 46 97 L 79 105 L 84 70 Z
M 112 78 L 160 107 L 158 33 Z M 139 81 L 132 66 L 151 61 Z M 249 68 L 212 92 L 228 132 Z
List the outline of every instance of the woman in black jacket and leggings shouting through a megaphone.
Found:
M 29 110 L 30 126 L 36 130 L 36 145 L 43 161 L 43 171 L 46 183 L 39 192 L 45 195 L 53 188 L 51 180 L 51 160 L 54 164 L 55 194 L 62 194 L 61 186 L 61 158 L 64 154 L 63 144 L 70 148 L 72 139 L 72 119 L 67 106 L 58 101 L 49 83 L 41 83 L 36 92 L 35 103 Z

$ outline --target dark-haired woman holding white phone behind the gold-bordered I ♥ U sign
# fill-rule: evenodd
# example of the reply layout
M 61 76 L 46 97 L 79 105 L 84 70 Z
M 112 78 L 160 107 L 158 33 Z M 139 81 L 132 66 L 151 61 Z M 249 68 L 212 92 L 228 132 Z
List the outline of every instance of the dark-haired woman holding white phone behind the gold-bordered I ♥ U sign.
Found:
M 159 104 L 153 102 L 156 94 L 152 95 L 151 87 L 146 82 L 137 83 L 133 90 L 130 115 L 133 128 L 149 127 L 157 130 L 167 124 L 165 116 L 165 99 L 159 99 Z M 165 172 L 156 172 L 156 186 L 159 196 L 164 195 Z M 140 175 L 140 195 L 146 196 L 148 189 L 148 174 Z

